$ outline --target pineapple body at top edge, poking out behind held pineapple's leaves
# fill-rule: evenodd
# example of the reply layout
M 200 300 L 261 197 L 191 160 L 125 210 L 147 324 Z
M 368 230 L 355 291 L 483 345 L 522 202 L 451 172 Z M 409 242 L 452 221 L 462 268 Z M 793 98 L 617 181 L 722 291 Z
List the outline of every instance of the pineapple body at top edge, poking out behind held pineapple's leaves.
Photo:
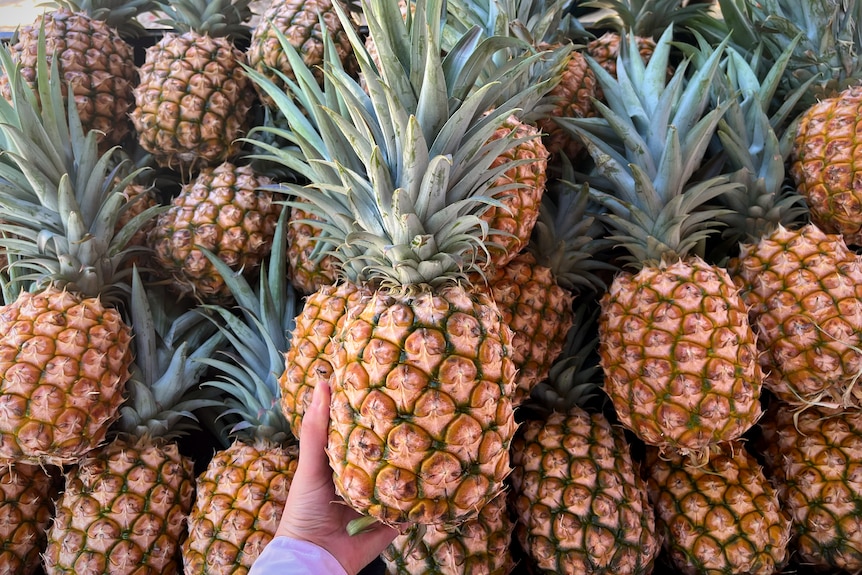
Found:
M 343 3 L 341 5 L 344 6 Z M 271 0 L 252 30 L 251 42 L 246 51 L 249 66 L 283 89 L 284 80 L 278 73 L 283 73 L 290 79 L 295 79 L 295 76 L 279 35 L 297 50 L 321 86 L 323 36 L 327 36 L 331 42 L 344 70 L 351 75 L 358 71 L 350 39 L 333 8 L 332 0 Z M 265 92 L 258 93 L 267 106 L 273 105 L 272 99 Z

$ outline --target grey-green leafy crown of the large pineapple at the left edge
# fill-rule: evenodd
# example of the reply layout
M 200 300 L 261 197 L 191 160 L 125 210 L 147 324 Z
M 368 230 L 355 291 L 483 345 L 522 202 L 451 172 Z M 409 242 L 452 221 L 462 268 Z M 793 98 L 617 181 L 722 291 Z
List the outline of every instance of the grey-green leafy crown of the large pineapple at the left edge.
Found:
M 145 248 L 127 248 L 131 237 L 160 209 L 148 209 L 116 231 L 125 187 L 138 175 L 114 151 L 98 153 L 86 135 L 74 94 L 65 102 L 57 59 L 45 57 L 40 30 L 36 91 L 21 76 L 8 50 L 0 64 L 11 101 L 0 100 L 0 246 L 14 254 L 20 285 L 67 287 L 106 301 L 128 292 L 126 259 Z M 68 112 L 68 113 L 67 113 Z

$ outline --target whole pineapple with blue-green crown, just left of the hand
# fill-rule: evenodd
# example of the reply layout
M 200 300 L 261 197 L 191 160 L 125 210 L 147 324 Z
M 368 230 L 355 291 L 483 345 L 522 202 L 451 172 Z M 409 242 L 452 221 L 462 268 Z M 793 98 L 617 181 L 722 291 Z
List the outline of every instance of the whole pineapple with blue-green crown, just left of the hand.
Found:
M 275 535 L 296 472 L 299 452 L 279 407 L 277 381 L 297 312 L 287 283 L 285 216 L 256 290 L 204 252 L 239 307 L 234 314 L 205 306 L 223 321 L 220 329 L 231 349 L 223 358 L 201 358 L 219 377 L 208 385 L 225 397 L 221 422 L 233 439 L 197 478 L 182 550 L 186 575 L 247 573 Z

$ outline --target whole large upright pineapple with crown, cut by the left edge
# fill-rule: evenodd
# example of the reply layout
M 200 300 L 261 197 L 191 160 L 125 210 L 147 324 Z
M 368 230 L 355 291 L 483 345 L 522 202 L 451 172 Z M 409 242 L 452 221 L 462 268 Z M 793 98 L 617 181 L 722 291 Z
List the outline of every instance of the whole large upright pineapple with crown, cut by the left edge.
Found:
M 40 60 L 37 95 L 8 52 L 0 59 L 15 103 L 0 101 L 9 182 L 0 221 L 3 245 L 23 270 L 7 288 L 20 295 L 0 308 L 0 457 L 75 463 L 119 417 L 132 335 L 112 305 L 128 289 L 126 243 L 152 211 L 115 234 L 136 173 L 116 182 L 124 168 L 98 155 L 95 132 L 84 135 L 75 106 L 64 106 L 51 81 L 60 77 L 56 61 L 49 69 Z

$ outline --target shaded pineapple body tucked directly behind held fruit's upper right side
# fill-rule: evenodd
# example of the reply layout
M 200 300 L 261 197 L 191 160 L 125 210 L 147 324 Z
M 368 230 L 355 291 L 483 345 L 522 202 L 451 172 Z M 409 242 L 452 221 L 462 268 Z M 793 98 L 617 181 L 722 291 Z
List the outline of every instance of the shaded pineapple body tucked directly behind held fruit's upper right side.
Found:
M 551 269 L 522 253 L 488 279 L 488 288 L 513 332 L 512 360 L 518 370 L 512 402 L 517 407 L 548 376 L 572 326 L 574 297 Z

